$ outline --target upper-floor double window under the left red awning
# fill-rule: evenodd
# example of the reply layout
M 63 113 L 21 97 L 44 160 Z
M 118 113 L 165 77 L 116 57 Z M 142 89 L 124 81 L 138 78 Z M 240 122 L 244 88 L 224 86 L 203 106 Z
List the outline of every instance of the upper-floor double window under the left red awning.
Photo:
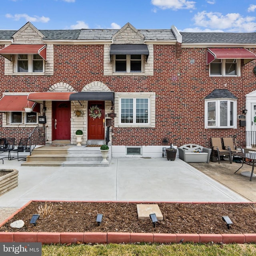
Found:
M 44 72 L 44 60 L 38 54 L 17 54 L 16 72 Z

